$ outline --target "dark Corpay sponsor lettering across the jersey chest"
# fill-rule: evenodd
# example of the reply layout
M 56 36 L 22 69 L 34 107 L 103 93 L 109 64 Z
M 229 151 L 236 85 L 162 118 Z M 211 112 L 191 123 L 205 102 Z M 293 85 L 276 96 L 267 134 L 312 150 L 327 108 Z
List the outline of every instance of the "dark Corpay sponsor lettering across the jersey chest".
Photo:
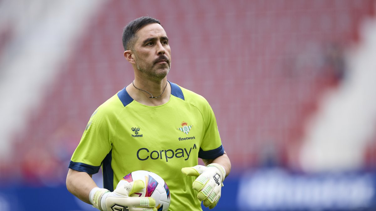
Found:
M 148 149 L 148 148 L 140 148 L 137 150 L 137 158 L 138 160 L 166 160 L 168 159 L 184 159 L 188 160 L 190 158 L 191 153 L 193 150 L 197 150 L 196 144 L 194 144 L 191 148 L 177 148 L 177 149 Z

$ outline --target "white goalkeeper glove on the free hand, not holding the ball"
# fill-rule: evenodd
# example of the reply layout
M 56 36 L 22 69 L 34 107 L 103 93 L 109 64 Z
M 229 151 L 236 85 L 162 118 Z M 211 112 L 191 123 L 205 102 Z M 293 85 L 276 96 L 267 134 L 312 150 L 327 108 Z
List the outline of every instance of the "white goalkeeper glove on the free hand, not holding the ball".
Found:
M 203 201 L 203 205 L 212 209 L 217 205 L 221 197 L 221 187 L 223 186 L 226 170 L 218 163 L 208 166 L 193 166 L 182 168 L 182 172 L 190 176 L 198 176 L 193 182 L 194 190 L 199 191 L 197 199 Z

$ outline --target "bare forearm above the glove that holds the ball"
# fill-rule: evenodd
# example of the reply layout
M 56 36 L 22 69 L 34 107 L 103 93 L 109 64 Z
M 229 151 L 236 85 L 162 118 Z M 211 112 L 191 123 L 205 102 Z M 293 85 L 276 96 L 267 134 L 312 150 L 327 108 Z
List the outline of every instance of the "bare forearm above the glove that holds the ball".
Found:
M 89 192 L 92 188 L 97 187 L 91 175 L 86 172 L 69 169 L 66 183 L 70 193 L 83 202 L 91 204 L 89 201 Z

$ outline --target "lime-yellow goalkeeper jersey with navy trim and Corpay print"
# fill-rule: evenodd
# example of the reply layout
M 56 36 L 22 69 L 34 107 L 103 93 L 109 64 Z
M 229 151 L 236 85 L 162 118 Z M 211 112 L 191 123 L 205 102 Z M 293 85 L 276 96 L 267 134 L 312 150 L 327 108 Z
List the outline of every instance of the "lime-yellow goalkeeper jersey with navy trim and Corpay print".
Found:
M 202 210 L 194 177 L 181 172 L 197 158 L 214 159 L 224 149 L 214 113 L 202 96 L 171 83 L 170 100 L 147 106 L 126 89 L 100 105 L 91 116 L 69 168 L 95 174 L 102 167 L 103 186 L 113 191 L 136 170 L 161 176 L 171 193 L 169 210 Z

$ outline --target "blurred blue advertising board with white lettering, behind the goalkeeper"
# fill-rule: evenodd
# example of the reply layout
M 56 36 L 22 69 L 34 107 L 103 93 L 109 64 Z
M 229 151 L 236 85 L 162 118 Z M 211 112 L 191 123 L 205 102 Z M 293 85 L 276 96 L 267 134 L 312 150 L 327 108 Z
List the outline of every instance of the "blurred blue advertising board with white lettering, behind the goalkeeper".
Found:
M 98 175 L 98 176 L 97 176 Z M 101 184 L 99 174 L 94 175 Z M 56 206 L 58 204 L 58 206 Z M 43 205 L 41 207 L 41 205 Z M 0 211 L 89 211 L 91 205 L 54 186 L 0 181 Z M 203 211 L 209 211 L 202 206 Z M 376 173 L 308 174 L 282 168 L 233 169 L 213 211 L 374 211 Z

